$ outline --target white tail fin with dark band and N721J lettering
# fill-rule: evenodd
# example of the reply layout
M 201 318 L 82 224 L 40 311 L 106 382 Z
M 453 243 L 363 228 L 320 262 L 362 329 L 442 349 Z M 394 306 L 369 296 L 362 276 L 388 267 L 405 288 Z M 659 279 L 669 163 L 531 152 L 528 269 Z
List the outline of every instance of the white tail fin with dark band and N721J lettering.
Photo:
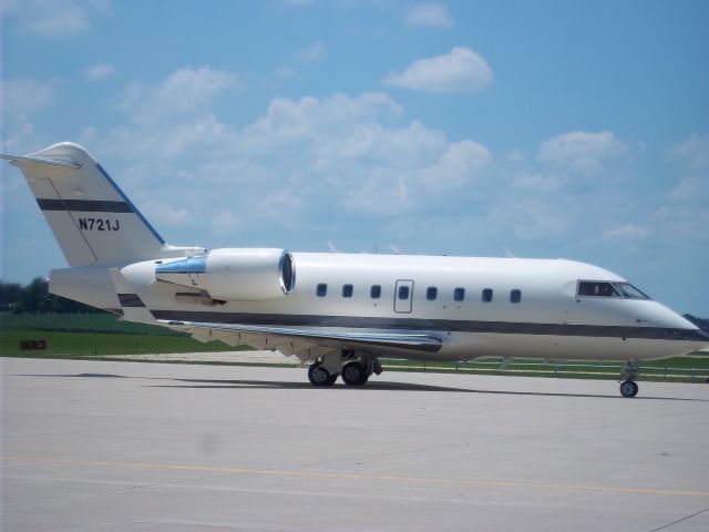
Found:
M 82 146 L 62 142 L 19 157 L 0 155 L 24 174 L 70 266 L 147 260 L 203 252 L 167 244 Z

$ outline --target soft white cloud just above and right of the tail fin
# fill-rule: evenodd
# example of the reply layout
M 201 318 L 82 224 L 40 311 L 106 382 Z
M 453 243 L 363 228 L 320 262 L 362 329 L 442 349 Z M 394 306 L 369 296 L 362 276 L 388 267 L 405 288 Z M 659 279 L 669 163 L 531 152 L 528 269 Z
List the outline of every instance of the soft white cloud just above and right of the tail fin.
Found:
M 209 66 L 179 69 L 160 84 L 131 83 L 119 108 L 137 122 L 182 117 L 204 112 L 218 96 L 239 86 L 234 72 Z

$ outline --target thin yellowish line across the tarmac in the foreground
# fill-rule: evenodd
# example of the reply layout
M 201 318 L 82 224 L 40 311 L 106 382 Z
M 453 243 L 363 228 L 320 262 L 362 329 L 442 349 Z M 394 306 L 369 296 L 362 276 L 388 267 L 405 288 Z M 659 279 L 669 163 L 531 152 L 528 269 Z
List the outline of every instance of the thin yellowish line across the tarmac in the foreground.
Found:
M 612 485 L 585 485 L 585 484 L 561 484 L 551 482 L 520 482 L 490 479 L 435 479 L 435 478 L 417 478 L 417 477 L 398 477 L 398 475 L 380 475 L 363 474 L 348 472 L 330 472 L 330 471 L 296 471 L 279 469 L 251 469 L 251 468 L 232 468 L 216 466 L 187 466 L 187 464 L 167 464 L 167 463 L 144 463 L 144 462 L 119 462 L 102 460 L 62 460 L 53 458 L 38 457 L 0 457 L 3 462 L 35 462 L 35 463 L 53 463 L 58 466 L 85 466 L 93 468 L 124 468 L 124 469 L 145 469 L 155 471 L 202 471 L 227 474 L 243 474 L 253 477 L 291 477 L 304 479 L 320 480 L 363 480 L 363 481 L 382 481 L 382 482 L 400 482 L 410 484 L 451 484 L 451 485 L 479 485 L 489 488 L 506 488 L 522 490 L 547 490 L 547 491 L 578 491 L 578 492 L 596 492 L 596 493 L 626 493 L 640 495 L 671 495 L 686 498 L 709 498 L 709 491 L 690 491 L 690 490 L 666 490 L 657 488 L 623 488 Z

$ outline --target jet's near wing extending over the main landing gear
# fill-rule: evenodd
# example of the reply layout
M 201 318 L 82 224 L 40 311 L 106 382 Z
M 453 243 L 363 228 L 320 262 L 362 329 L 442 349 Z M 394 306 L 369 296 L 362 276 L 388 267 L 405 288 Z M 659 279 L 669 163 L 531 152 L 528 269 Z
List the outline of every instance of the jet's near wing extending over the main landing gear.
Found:
M 219 339 L 230 345 L 247 344 L 285 355 L 296 355 L 301 360 L 317 358 L 342 347 L 395 356 L 411 351 L 436 352 L 443 346 L 443 340 L 436 336 L 415 332 L 356 332 L 204 321 L 157 321 L 189 332 L 203 341 Z

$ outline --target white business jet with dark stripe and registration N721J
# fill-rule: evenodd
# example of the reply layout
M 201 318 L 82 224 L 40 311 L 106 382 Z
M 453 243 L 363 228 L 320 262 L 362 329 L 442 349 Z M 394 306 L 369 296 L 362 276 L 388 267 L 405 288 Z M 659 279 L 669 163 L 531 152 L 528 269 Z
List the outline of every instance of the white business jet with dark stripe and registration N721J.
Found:
M 81 146 L 20 167 L 69 263 L 50 291 L 130 321 L 312 362 L 314 386 L 379 375 L 378 357 L 624 361 L 685 355 L 709 336 L 624 278 L 589 264 L 523 258 L 291 253 L 165 243 Z

